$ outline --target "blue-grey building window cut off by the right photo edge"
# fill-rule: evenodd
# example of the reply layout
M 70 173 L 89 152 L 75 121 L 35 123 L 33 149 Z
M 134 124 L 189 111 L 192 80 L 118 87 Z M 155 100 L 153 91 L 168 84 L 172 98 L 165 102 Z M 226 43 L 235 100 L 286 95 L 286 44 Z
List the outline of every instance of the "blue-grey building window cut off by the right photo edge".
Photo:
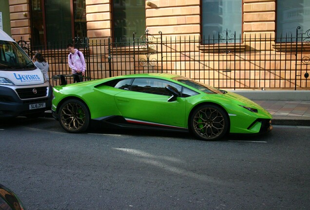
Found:
M 301 33 L 310 29 L 310 0 L 277 0 L 277 42 L 291 41 L 298 26 Z

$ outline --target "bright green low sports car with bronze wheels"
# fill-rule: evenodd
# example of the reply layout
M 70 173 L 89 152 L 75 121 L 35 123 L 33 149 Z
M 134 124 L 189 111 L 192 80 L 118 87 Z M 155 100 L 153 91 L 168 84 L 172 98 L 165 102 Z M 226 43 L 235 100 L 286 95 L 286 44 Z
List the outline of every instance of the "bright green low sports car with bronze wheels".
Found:
M 174 74 L 117 76 L 54 87 L 52 112 L 70 133 L 105 126 L 191 131 L 202 140 L 270 131 L 271 114 L 238 94 Z

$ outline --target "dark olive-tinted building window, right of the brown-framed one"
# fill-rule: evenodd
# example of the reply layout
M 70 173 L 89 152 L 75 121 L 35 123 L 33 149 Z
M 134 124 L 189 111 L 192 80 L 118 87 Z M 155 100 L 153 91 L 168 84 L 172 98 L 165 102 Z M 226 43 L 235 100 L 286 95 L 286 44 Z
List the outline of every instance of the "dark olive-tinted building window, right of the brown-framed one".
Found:
M 116 42 L 145 34 L 145 0 L 113 0 L 113 25 Z

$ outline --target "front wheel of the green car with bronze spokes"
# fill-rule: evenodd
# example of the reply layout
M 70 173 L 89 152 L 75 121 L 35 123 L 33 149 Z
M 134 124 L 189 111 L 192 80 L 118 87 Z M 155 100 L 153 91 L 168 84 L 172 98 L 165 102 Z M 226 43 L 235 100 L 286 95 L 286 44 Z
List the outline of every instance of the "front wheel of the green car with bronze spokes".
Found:
M 229 121 L 226 112 L 217 105 L 197 107 L 190 119 L 191 130 L 202 140 L 218 140 L 228 130 Z

